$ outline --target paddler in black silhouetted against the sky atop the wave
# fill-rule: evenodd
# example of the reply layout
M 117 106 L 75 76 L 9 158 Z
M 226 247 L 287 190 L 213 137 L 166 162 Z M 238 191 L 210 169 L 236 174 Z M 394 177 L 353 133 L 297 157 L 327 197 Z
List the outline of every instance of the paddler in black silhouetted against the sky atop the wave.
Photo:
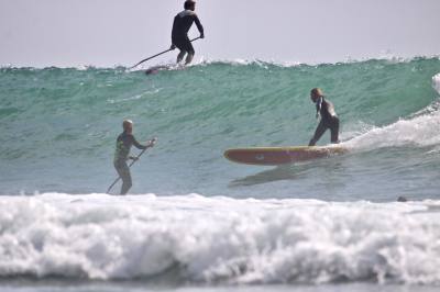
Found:
M 177 55 L 177 63 L 180 63 L 185 55 L 188 54 L 185 59 L 185 65 L 188 65 L 191 63 L 195 54 L 193 44 L 188 37 L 188 31 L 193 23 L 196 22 L 197 29 L 200 32 L 200 38 L 205 38 L 205 34 L 204 26 L 201 25 L 196 12 L 194 12 L 196 10 L 196 2 L 187 0 L 185 1 L 184 8 L 185 10 L 174 18 L 172 32 L 173 44 L 170 48 L 174 49 L 177 47 L 180 49 L 180 53 Z

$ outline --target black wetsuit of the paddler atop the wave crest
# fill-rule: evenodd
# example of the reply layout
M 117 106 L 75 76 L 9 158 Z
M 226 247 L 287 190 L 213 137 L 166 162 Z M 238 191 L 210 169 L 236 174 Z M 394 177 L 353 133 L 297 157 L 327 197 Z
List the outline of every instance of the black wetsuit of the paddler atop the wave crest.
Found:
M 188 31 L 194 22 L 196 22 L 200 35 L 204 35 L 204 26 L 201 25 L 197 14 L 191 10 L 184 10 L 174 18 L 172 32 L 173 44 L 178 47 L 178 49 L 185 50 L 191 55 L 195 54 L 195 50 L 188 38 Z

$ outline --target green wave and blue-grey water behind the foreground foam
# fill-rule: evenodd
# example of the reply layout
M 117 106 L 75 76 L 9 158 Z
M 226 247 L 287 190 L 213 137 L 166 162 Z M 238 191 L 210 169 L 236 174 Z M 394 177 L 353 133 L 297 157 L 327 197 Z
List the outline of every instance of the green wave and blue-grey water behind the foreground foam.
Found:
M 132 193 L 438 199 L 439 72 L 439 58 L 428 57 L 201 63 L 154 75 L 1 68 L 0 193 L 105 192 L 117 176 L 122 120 L 131 119 L 140 142 L 158 137 L 132 168 Z M 283 168 L 224 159 L 232 147 L 307 145 L 315 87 L 336 106 L 348 155 Z M 329 141 L 327 133 L 319 144 Z

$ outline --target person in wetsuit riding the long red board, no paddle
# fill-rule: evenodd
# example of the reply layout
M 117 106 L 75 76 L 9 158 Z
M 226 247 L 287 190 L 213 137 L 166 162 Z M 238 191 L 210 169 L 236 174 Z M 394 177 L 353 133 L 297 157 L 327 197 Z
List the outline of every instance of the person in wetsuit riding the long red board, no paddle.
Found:
M 321 116 L 321 121 L 315 131 L 314 137 L 309 142 L 309 146 L 315 146 L 328 128 L 330 128 L 331 133 L 331 143 L 339 143 L 339 119 L 334 112 L 333 104 L 324 99 L 322 91 L 319 88 L 314 88 L 310 91 L 310 99 L 316 103 L 317 119 Z

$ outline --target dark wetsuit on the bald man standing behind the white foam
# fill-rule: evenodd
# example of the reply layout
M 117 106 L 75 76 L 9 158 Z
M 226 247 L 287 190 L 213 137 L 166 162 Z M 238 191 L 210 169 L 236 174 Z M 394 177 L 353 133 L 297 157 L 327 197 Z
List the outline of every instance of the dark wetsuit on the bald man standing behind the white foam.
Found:
M 121 194 L 125 194 L 132 186 L 130 168 L 127 165 L 127 160 L 130 158 L 129 155 L 132 145 L 134 145 L 138 149 L 147 148 L 147 146 L 140 144 L 132 134 L 123 132 L 118 136 L 113 165 L 118 171 L 118 175 L 122 179 Z

